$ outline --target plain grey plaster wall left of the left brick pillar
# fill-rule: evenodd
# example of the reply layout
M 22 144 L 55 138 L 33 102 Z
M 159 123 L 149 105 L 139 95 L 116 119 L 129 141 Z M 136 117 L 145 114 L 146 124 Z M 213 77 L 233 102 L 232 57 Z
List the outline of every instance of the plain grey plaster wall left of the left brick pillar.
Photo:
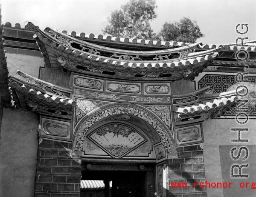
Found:
M 38 117 L 26 109 L 3 108 L 0 137 L 0 196 L 34 197 Z

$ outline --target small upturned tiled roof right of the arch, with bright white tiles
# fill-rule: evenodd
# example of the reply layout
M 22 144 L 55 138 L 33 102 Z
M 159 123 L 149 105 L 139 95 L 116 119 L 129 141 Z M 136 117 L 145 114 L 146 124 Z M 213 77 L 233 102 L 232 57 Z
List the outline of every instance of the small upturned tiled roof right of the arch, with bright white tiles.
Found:
M 201 120 L 219 117 L 236 103 L 239 99 L 237 93 L 245 91 L 239 88 L 237 92 L 234 90 L 211 94 L 207 91 L 209 88 L 208 86 L 191 93 L 174 95 L 172 111 L 176 113 L 175 123 L 193 121 L 195 117 Z

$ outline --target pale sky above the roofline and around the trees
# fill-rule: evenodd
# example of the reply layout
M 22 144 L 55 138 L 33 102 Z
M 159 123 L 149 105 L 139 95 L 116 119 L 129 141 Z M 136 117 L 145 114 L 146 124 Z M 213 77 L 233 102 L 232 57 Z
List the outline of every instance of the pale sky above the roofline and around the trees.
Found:
M 1 0 L 2 23 L 26 21 L 58 31 L 76 31 L 85 34 L 102 34 L 108 24 L 111 11 L 120 9 L 129 0 Z M 197 42 L 204 44 L 236 43 L 237 37 L 244 41 L 256 40 L 256 0 L 156 0 L 157 18 L 151 22 L 155 33 L 164 22 L 180 21 L 182 17 L 196 20 L 205 35 Z M 248 24 L 244 35 L 236 32 L 236 25 Z M 241 27 L 241 25 L 240 25 Z M 244 30 L 244 29 L 243 29 Z M 239 29 L 239 31 L 243 32 Z

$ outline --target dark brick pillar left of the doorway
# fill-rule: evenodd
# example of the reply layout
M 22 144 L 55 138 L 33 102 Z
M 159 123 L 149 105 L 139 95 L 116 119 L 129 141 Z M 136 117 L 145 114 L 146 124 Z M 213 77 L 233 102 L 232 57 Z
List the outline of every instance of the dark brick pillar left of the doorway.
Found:
M 81 157 L 71 153 L 71 146 L 46 139 L 40 142 L 35 197 L 80 197 Z

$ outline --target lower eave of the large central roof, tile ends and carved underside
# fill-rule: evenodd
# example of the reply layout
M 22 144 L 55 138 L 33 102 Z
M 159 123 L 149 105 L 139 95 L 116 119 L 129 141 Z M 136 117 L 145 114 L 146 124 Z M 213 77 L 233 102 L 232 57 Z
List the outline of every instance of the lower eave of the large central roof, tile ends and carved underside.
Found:
M 52 68 L 61 69 L 62 66 L 66 69 L 83 72 L 85 70 L 93 70 L 93 74 L 99 74 L 107 71 L 115 74 L 118 77 L 119 72 L 137 73 L 137 74 L 154 74 L 172 75 L 170 80 L 178 79 L 193 79 L 203 69 L 218 56 L 218 52 L 209 51 L 204 56 L 195 56 L 184 60 L 159 63 L 127 63 L 120 61 L 112 61 L 107 58 L 95 57 L 93 55 L 83 58 L 81 55 L 76 55 L 74 51 L 59 50 L 58 47 L 44 45 L 44 57 L 49 62 Z M 70 66 L 72 65 L 72 66 Z M 175 75 L 176 74 L 176 75 Z M 121 78 L 123 76 L 120 76 Z M 164 76 L 162 76 L 164 77 Z M 136 78 L 136 77 L 135 77 Z M 143 78 L 145 80 L 145 78 Z

